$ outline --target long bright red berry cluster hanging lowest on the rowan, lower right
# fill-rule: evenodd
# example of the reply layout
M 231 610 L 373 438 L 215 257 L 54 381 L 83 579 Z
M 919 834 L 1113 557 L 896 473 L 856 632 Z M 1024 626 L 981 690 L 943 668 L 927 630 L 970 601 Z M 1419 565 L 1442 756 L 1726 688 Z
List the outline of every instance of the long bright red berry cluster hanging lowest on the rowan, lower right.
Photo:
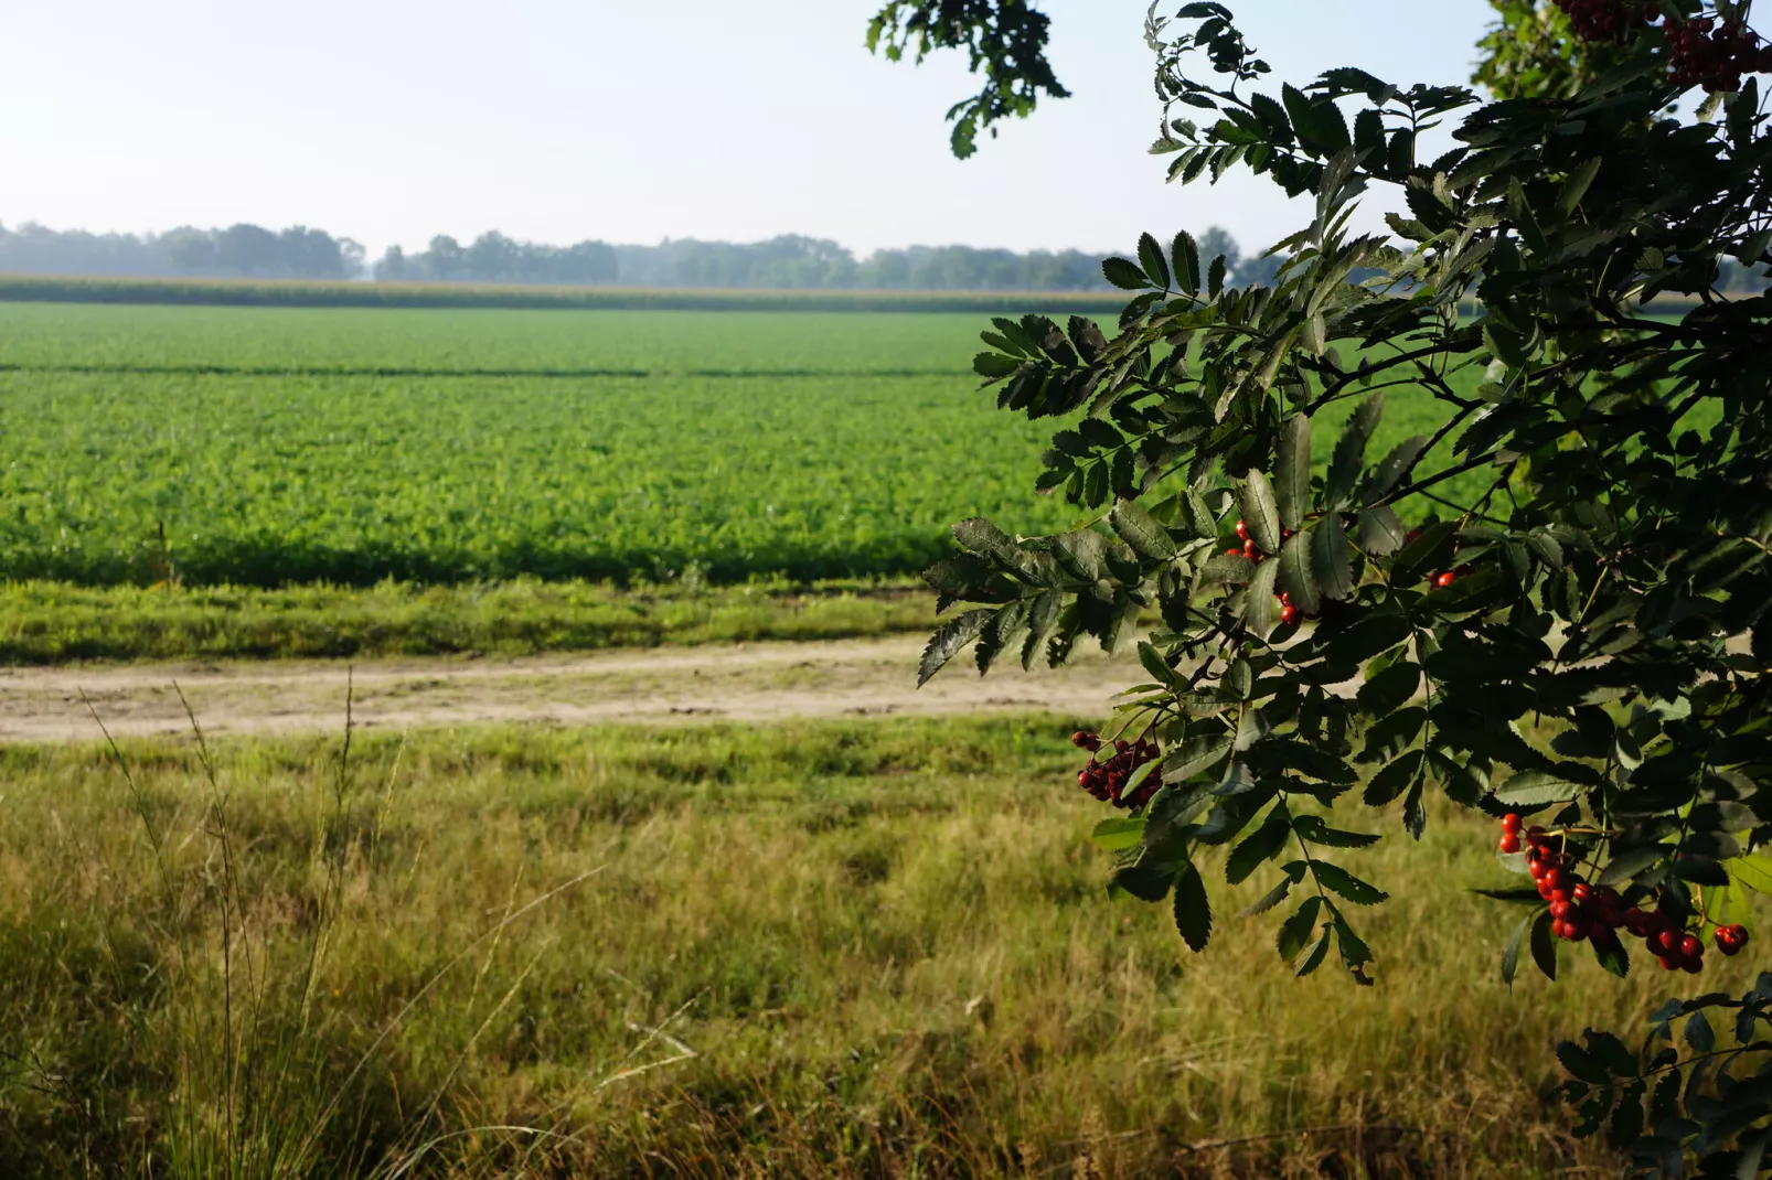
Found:
M 1627 930 L 1643 939 L 1644 946 L 1664 971 L 1687 971 L 1698 974 L 1705 967 L 1705 944 L 1696 934 L 1687 932 L 1685 923 L 1666 911 L 1644 911 L 1636 905 L 1627 907 L 1616 889 L 1609 886 L 1591 886 L 1575 875 L 1575 861 L 1566 852 L 1556 850 L 1554 836 L 1542 827 L 1520 831 L 1520 817 L 1508 813 L 1501 819 L 1501 850 L 1519 852 L 1520 840 L 1526 842 L 1526 868 L 1538 882 L 1538 897 L 1550 902 L 1550 932 L 1559 939 L 1581 943 L 1588 939 L 1597 950 L 1616 950 L 1618 930 Z M 1717 927 L 1717 950 L 1735 955 L 1747 946 L 1747 928 L 1731 925 Z

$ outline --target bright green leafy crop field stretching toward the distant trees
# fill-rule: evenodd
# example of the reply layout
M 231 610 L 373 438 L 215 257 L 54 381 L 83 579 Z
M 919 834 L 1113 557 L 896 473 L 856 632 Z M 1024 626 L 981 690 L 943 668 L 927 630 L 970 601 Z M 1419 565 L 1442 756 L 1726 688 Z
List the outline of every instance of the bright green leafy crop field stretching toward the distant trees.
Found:
M 12 579 L 285 586 L 913 572 L 1053 423 L 976 314 L 0 305 Z M 1380 443 L 1430 408 L 1391 399 Z M 1327 457 L 1333 441 L 1318 441 Z

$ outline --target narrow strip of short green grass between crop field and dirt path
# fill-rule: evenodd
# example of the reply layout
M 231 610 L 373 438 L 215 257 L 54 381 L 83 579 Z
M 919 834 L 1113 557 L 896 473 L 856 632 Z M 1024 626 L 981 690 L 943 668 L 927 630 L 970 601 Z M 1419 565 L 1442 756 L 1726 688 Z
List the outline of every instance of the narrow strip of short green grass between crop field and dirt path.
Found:
M 617 588 L 0 585 L 0 663 L 388 657 L 595 650 L 661 643 L 838 640 L 925 631 L 913 583 Z

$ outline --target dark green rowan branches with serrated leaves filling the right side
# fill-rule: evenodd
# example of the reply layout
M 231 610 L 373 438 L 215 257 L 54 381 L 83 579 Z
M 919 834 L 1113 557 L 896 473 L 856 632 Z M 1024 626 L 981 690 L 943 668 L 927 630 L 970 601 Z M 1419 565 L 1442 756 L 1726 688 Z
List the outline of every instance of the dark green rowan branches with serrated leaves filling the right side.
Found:
M 1662 7 L 1676 19 L 1699 9 Z M 1069 432 L 1083 445 L 1047 452 L 1042 487 L 1097 510 L 1143 501 L 1173 556 L 1100 524 L 968 546 L 1017 599 L 1065 595 L 1054 661 L 1083 634 L 1139 638 L 1138 608 L 1164 620 L 1148 643 L 1175 677 L 1120 705 L 1129 735 L 1170 751 L 1164 787 L 1143 849 L 1122 858 L 1173 877 L 1196 845 L 1240 840 L 1232 872 L 1249 872 L 1272 817 L 1333 804 L 1357 760 L 1375 772 L 1366 803 L 1402 799 L 1416 836 L 1430 785 L 1492 815 L 1533 811 L 1627 904 L 1678 918 L 1703 893 L 1722 921 L 1729 891 L 1768 886 L 1753 852 L 1772 842 L 1760 781 L 1772 769 L 1772 299 L 1712 296 L 1724 260 L 1772 260 L 1758 83 L 1708 103 L 1714 120 L 1669 117 L 1682 92 L 1653 30 L 1563 97 L 1481 105 L 1357 69 L 1260 97 L 1247 89 L 1267 67 L 1223 5 L 1189 4 L 1178 21 L 1148 27 L 1170 106 L 1154 151 L 1173 156 L 1170 175 L 1247 167 L 1313 195 L 1315 220 L 1274 246 L 1286 260 L 1272 285 L 1205 296 L 1146 236 L 1138 262 L 1109 268 L 1141 294 L 1106 347 L 1070 347 L 1030 317 L 1021 335 L 1035 347 L 980 365 L 1008 409 L 1084 411 Z M 1191 73 L 1196 53 L 1217 78 Z M 1458 144 L 1434 161 L 1414 151 L 1428 122 L 1449 122 Z M 1393 236 L 1350 230 L 1373 186 L 1409 209 L 1389 218 Z M 1699 303 L 1646 315 L 1664 292 Z M 1478 314 L 1460 315 L 1473 294 Z M 1441 413 L 1375 454 L 1386 392 L 1428 395 Z M 1354 400 L 1327 473 L 1306 477 L 1299 420 Z M 1474 482 L 1453 482 L 1465 475 Z M 1237 517 L 1256 558 L 1272 556 L 1224 551 Z M 1411 535 L 1403 521 L 1423 526 Z M 1276 624 L 1276 588 L 1315 625 Z M 1361 673 L 1357 695 L 1327 691 Z M 1320 859 L 1338 847 L 1331 833 L 1290 824 L 1302 854 L 1262 909 L 1310 881 L 1281 955 L 1306 974 L 1333 941 L 1368 982 L 1372 951 L 1343 905 L 1384 893 Z M 1524 944 L 1554 978 L 1552 934 L 1538 909 L 1504 976 Z M 1621 950 L 1600 960 L 1630 969 Z M 1706 1038 L 1689 1042 L 1703 1054 Z M 1563 1052 L 1589 1130 L 1620 1095 L 1648 1093 L 1648 1072 L 1613 1045 Z M 1738 1077 L 1758 1063 L 1745 1058 Z M 1692 1153 L 1760 1175 L 1772 1070 L 1694 1075 L 1705 1070 L 1613 1132 L 1632 1141 L 1646 1125 L 1655 1161 Z

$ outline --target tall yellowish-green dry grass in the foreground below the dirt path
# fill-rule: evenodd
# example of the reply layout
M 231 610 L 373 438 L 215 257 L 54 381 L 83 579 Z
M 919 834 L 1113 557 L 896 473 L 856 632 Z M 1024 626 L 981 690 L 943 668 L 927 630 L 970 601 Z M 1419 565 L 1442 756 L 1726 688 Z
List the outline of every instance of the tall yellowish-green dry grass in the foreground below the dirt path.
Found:
M 1194 959 L 1106 900 L 1067 728 L 360 735 L 344 772 L 239 742 L 214 785 L 151 742 L 133 790 L 0 749 L 0 1173 L 1607 1166 L 1540 1097 L 1550 1045 L 1667 983 L 1581 959 L 1510 994 L 1487 824 L 1350 861 L 1395 895 L 1375 989 L 1294 980 L 1232 918 L 1265 881 L 1216 888 Z

